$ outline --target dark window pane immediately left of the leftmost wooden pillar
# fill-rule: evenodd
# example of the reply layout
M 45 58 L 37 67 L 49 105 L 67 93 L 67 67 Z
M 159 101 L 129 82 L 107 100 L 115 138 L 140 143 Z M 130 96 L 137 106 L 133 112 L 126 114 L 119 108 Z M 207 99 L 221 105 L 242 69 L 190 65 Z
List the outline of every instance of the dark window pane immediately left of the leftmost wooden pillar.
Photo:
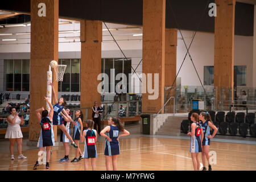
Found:
M 30 60 L 22 60 L 22 91 L 30 91 Z

